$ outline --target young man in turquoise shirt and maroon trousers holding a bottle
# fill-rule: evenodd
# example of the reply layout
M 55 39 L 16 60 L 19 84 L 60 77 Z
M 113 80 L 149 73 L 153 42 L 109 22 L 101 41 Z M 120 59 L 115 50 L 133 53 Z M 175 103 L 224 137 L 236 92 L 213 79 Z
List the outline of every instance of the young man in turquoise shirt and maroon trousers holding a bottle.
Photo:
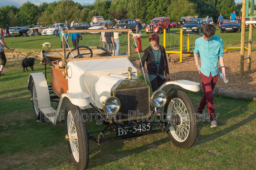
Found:
M 204 90 L 204 95 L 200 101 L 197 113 L 204 119 L 209 119 L 211 128 L 217 127 L 215 116 L 215 107 L 213 104 L 213 89 L 218 79 L 219 65 L 222 68 L 222 73 L 226 79 L 226 72 L 223 59 L 223 43 L 222 39 L 215 34 L 216 28 L 213 25 L 206 25 L 203 28 L 203 37 L 197 38 L 195 41 L 194 58 L 198 72 L 201 77 L 201 82 Z M 200 53 L 201 66 L 198 61 L 198 52 Z M 203 113 L 204 107 L 207 105 L 208 115 Z

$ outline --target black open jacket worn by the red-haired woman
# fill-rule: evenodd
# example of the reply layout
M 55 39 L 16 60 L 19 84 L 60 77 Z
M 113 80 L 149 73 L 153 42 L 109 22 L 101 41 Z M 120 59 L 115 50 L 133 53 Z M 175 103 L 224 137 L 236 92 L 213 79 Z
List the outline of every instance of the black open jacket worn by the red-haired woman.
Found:
M 163 75 L 164 74 L 164 70 L 166 68 L 166 73 L 165 74 L 169 74 L 169 68 L 168 68 L 168 62 L 167 62 L 167 57 L 166 57 L 166 53 L 165 53 L 165 48 L 160 45 L 160 50 L 161 50 L 161 58 L 160 58 L 160 63 L 159 63 L 159 67 L 157 67 L 157 65 L 154 62 L 154 55 L 153 52 L 150 48 L 150 46 L 148 48 L 146 48 L 144 50 L 144 55 L 141 59 L 141 63 L 140 63 L 140 69 L 141 68 L 145 68 L 144 67 L 144 63 L 147 62 L 147 69 L 148 69 L 148 74 L 151 75 Z M 165 68 L 164 68 L 164 60 L 165 59 Z

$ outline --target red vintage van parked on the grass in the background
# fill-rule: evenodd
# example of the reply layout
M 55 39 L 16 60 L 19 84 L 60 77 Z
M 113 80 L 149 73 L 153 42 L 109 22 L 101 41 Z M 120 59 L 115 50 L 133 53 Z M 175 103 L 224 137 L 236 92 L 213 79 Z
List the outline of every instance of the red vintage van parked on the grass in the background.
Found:
M 166 29 L 170 31 L 171 23 L 169 17 L 157 17 L 151 20 L 151 24 L 145 28 L 146 34 L 149 32 L 158 32 L 158 34 L 162 33 L 162 30 Z

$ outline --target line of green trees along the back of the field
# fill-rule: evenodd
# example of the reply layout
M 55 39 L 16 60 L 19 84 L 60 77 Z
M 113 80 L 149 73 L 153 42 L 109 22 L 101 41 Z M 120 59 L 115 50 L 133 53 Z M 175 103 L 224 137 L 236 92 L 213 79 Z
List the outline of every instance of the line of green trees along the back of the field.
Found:
M 229 18 L 233 11 L 241 15 L 242 3 L 234 0 L 95 0 L 93 4 L 81 5 L 73 0 L 60 0 L 34 5 L 26 2 L 20 8 L 6 5 L 0 8 L 0 25 L 25 26 L 39 23 L 51 26 L 57 21 L 63 23 L 91 22 L 93 16 L 117 20 L 140 18 L 149 23 L 152 18 L 167 16 L 171 21 L 180 21 L 182 16 L 212 16 L 217 22 L 219 13 Z M 240 14 L 239 14 L 240 12 Z

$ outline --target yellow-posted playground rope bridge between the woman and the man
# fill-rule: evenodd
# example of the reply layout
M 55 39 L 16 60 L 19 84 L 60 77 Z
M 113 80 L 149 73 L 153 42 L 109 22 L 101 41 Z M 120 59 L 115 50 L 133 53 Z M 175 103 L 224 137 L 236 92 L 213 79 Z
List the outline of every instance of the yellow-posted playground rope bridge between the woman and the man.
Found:
M 169 37 L 169 47 L 166 47 L 166 34 Z M 171 36 L 170 36 L 171 34 Z M 195 41 L 197 38 L 203 36 L 192 32 L 186 32 L 180 29 L 180 33 L 166 31 L 164 29 L 164 43 L 166 53 L 180 54 L 180 62 L 182 62 L 182 54 L 194 54 Z M 171 41 L 171 39 L 172 41 Z M 174 38 L 175 37 L 175 38 Z

